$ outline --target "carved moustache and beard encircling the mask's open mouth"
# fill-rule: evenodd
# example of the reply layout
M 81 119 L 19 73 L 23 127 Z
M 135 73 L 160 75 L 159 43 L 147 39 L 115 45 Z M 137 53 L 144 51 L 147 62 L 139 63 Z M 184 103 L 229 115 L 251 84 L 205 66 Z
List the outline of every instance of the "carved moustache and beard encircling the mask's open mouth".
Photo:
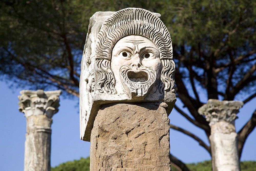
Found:
M 156 71 L 148 66 L 124 65 L 119 73 L 127 94 L 132 98 L 144 98 L 156 81 Z

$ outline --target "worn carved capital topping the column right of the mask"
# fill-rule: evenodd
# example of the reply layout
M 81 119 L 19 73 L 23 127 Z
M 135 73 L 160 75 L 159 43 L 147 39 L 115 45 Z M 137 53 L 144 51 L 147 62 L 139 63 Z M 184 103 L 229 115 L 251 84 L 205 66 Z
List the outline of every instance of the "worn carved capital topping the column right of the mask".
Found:
M 205 115 L 210 126 L 219 121 L 226 121 L 234 125 L 234 120 L 238 118 L 237 113 L 242 106 L 243 102 L 241 101 L 209 99 L 198 109 L 198 113 Z

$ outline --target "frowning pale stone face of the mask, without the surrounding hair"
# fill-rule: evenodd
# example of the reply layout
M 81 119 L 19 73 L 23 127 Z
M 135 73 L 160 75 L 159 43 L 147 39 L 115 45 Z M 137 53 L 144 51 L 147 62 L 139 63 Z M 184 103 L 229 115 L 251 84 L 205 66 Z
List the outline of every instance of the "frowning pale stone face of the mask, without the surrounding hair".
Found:
M 111 70 L 118 94 L 143 98 L 155 82 L 160 85 L 162 63 L 158 47 L 148 38 L 126 36 L 116 42 L 112 50 Z

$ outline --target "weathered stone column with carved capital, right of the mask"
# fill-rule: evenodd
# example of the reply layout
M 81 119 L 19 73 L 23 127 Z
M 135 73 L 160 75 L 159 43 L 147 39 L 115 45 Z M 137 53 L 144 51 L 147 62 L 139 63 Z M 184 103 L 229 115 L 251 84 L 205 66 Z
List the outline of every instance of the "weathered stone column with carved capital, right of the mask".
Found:
M 234 120 L 243 106 L 241 101 L 209 99 L 198 109 L 211 127 L 210 143 L 213 171 L 240 170 L 237 133 Z

